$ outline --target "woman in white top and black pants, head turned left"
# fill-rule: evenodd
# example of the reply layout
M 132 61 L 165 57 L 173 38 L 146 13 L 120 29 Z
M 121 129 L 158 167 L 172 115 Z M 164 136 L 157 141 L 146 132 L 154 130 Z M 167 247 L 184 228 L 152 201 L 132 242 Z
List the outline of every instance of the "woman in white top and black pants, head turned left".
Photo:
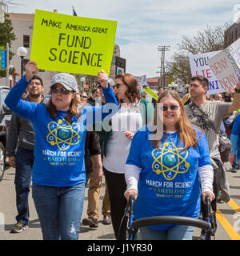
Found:
M 103 142 L 103 171 L 109 189 L 110 213 L 114 234 L 117 239 L 126 239 L 126 222 L 119 230 L 126 198 L 124 178 L 126 158 L 134 133 L 153 119 L 154 108 L 147 106 L 138 90 L 138 81 L 132 74 L 115 77 L 114 94 L 118 98 L 119 111 L 111 118 L 111 130 L 105 133 Z

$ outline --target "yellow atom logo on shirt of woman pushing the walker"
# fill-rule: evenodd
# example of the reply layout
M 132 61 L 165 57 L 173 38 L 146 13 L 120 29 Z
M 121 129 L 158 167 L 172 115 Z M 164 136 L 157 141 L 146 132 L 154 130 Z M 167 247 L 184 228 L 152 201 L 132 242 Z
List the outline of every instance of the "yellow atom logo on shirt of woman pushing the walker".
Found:
M 164 178 L 171 181 L 177 174 L 186 173 L 190 164 L 186 162 L 188 151 L 181 151 L 183 148 L 177 148 L 172 142 L 163 143 L 163 148 L 152 151 L 154 162 L 152 168 L 157 174 L 163 174 Z M 179 151 L 181 151 L 179 153 Z

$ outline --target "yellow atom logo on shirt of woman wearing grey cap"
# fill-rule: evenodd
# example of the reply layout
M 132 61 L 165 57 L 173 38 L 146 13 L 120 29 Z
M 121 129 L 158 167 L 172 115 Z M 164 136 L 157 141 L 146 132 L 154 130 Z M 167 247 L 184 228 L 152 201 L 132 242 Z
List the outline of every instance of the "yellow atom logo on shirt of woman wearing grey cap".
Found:
M 57 122 L 50 122 L 47 126 L 49 134 L 46 137 L 47 142 L 51 146 L 57 145 L 59 150 L 67 150 L 70 145 L 75 145 L 79 142 L 78 135 L 80 126 L 73 122 L 71 125 L 65 119 Z

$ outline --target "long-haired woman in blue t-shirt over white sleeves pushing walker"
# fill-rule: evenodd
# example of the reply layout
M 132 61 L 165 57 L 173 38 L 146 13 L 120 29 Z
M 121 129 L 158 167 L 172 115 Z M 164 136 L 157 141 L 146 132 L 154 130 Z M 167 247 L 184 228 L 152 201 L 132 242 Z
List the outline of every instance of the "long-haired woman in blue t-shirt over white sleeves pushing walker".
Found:
M 134 195 L 134 218 L 174 215 L 198 218 L 200 200 L 214 199 L 213 168 L 206 136 L 192 126 L 178 93 L 163 92 L 154 126 L 134 135 L 126 161 L 126 199 Z M 161 103 L 161 104 L 159 104 Z M 142 239 L 192 239 L 194 227 L 156 225 L 140 228 Z

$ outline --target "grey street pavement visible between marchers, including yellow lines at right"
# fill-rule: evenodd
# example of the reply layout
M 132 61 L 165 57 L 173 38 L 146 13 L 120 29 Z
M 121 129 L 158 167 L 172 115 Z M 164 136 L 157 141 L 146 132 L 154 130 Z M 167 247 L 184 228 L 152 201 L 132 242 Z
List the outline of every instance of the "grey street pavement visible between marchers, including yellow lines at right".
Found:
M 230 164 L 226 164 L 227 169 Z M 30 223 L 29 229 L 22 233 L 11 234 L 10 230 L 15 224 L 17 214 L 15 206 L 14 168 L 8 167 L 0 182 L 0 240 L 42 240 L 42 232 L 38 215 L 34 209 L 34 202 L 30 193 Z M 226 172 L 230 182 L 231 200 L 229 203 L 218 203 L 218 231 L 216 240 L 240 240 L 240 171 L 237 174 Z M 105 191 L 105 182 L 102 182 L 100 209 Z M 82 218 L 86 218 L 87 189 L 85 194 Z M 81 226 L 79 239 L 81 240 L 114 240 L 112 225 L 102 224 L 102 214 L 98 221 L 98 228 L 91 229 L 89 226 Z M 200 229 L 194 231 L 194 240 L 198 238 Z

